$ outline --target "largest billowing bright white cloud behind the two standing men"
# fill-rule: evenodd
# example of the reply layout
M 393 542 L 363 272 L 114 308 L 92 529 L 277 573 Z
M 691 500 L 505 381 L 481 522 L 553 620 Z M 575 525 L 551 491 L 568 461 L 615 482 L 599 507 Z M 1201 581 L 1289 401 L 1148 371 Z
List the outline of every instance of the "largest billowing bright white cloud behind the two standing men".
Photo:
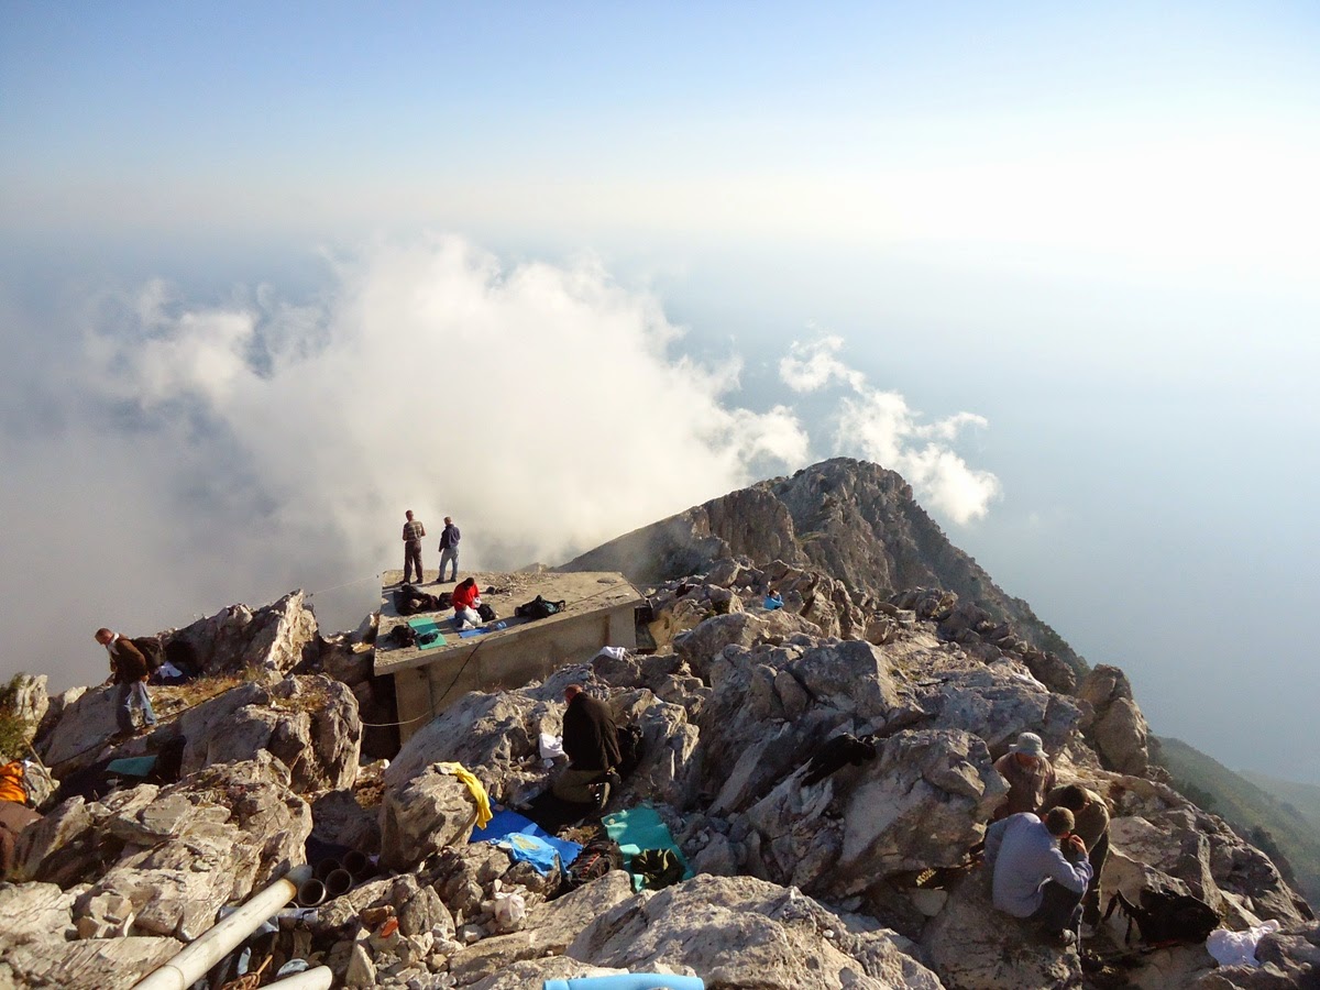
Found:
M 672 355 L 657 301 L 593 260 L 504 267 L 436 238 L 337 268 L 315 318 L 268 293 L 160 318 L 149 285 L 135 333 L 95 335 L 94 376 L 195 449 L 195 424 L 165 414 L 193 408 L 202 450 L 226 453 L 209 483 L 238 457 L 294 544 L 331 539 L 356 569 L 392 562 L 404 507 L 463 520 L 473 565 L 557 562 L 807 457 L 791 409 L 727 404 L 737 360 Z

